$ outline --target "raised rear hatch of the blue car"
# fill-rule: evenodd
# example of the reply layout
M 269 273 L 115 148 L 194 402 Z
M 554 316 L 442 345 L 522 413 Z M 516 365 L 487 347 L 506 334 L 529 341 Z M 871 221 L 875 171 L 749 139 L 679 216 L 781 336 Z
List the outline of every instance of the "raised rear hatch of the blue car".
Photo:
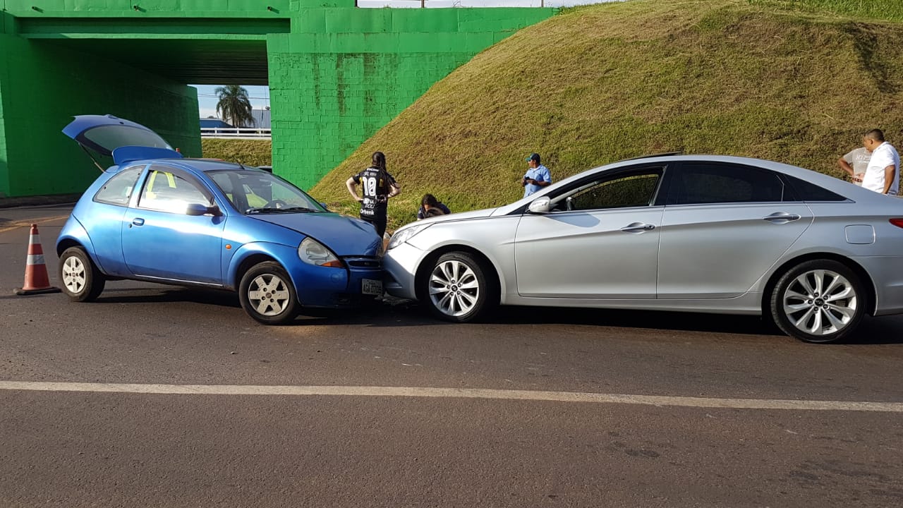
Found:
M 85 149 L 113 157 L 117 165 L 149 158 L 182 158 L 153 130 L 113 115 L 79 115 L 62 132 Z

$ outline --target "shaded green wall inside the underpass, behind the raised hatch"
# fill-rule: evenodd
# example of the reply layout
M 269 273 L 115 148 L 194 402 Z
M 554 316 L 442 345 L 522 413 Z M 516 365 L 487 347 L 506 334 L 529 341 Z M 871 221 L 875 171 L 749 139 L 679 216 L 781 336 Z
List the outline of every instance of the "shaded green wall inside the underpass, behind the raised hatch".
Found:
M 81 193 L 97 178 L 61 133 L 75 115 L 135 120 L 200 156 L 196 89 L 50 42 L 0 34 L 0 47 L 0 197 Z

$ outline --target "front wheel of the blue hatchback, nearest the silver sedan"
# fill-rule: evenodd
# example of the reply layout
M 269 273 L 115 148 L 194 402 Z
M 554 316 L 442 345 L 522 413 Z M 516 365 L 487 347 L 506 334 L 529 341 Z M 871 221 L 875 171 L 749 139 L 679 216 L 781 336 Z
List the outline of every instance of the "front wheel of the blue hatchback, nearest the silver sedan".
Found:
M 238 285 L 238 300 L 248 315 L 264 325 L 285 325 L 298 315 L 298 294 L 288 272 L 275 261 L 257 263 Z

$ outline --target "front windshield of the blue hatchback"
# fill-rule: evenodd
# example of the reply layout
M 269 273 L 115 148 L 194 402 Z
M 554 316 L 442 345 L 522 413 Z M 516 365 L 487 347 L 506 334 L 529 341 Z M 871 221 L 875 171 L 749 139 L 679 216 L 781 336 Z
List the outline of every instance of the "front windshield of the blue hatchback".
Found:
M 319 202 L 274 174 L 257 169 L 211 171 L 229 202 L 239 212 L 326 212 Z

